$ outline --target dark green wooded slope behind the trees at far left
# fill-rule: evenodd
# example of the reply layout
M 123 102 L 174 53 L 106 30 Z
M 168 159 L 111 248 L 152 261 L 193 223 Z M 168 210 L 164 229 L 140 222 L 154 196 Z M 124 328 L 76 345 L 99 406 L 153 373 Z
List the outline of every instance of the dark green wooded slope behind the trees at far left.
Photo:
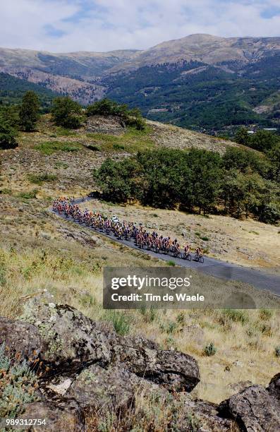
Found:
M 28 90 L 37 93 L 42 107 L 48 107 L 56 97 L 56 93 L 47 88 L 0 72 L 0 104 L 18 104 Z

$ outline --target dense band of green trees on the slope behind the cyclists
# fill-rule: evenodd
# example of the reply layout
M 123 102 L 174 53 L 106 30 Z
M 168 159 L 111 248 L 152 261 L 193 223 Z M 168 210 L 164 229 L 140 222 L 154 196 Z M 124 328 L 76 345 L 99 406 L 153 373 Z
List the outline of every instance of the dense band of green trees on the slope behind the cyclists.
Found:
M 279 174 L 273 174 L 274 164 L 264 155 L 236 148 L 229 148 L 222 157 L 218 152 L 196 148 L 151 150 L 143 147 L 142 140 L 133 149 L 130 136 L 140 134 L 143 138 L 145 133 L 95 136 L 103 140 L 102 148 L 106 150 L 119 142 L 129 152 L 138 150 L 119 162 L 108 158 L 94 172 L 105 199 L 115 203 L 138 200 L 155 208 L 179 206 L 199 214 L 219 212 L 238 219 L 256 217 L 270 224 L 280 220 Z M 200 232 L 195 235 L 209 241 Z

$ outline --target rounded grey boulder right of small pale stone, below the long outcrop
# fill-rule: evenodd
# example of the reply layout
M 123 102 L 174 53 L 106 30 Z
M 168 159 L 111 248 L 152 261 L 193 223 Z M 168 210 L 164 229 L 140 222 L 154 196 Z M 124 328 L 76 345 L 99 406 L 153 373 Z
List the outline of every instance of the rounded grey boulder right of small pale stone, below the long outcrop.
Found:
M 92 365 L 80 373 L 66 396 L 75 398 L 83 409 L 120 414 L 134 407 L 135 392 L 126 369 Z

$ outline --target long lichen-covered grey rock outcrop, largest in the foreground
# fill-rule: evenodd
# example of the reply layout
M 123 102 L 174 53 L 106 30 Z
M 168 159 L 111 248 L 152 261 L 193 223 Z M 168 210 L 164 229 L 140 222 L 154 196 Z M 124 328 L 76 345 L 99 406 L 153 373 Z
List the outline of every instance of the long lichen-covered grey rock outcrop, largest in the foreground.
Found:
M 191 391 L 200 380 L 197 362 L 188 354 L 163 351 L 141 337 L 118 337 L 114 330 L 90 320 L 75 308 L 51 298 L 32 299 L 21 317 L 37 328 L 44 349 L 40 359 L 55 371 L 81 371 L 91 364 L 121 365 L 130 373 L 169 390 Z

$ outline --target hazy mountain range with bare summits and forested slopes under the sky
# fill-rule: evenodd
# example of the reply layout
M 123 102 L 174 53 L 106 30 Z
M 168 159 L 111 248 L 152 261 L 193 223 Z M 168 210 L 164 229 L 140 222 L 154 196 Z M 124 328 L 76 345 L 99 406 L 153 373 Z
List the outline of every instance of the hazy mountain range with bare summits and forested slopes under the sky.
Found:
M 83 104 L 110 97 L 197 131 L 280 122 L 280 37 L 190 35 L 106 53 L 0 48 L 0 72 Z

